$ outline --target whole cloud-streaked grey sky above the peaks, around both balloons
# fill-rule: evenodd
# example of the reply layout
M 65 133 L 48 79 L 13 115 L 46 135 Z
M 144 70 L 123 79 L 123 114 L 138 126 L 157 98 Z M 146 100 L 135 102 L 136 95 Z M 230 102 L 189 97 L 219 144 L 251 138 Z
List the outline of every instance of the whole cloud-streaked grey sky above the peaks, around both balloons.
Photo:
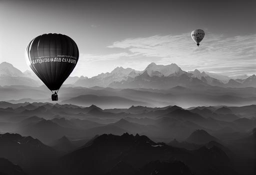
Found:
M 255 0 L 0 0 L 0 62 L 30 69 L 24 51 L 43 33 L 78 45 L 71 76 L 117 66 L 176 63 L 229 76 L 256 74 Z M 190 32 L 205 36 L 197 47 Z

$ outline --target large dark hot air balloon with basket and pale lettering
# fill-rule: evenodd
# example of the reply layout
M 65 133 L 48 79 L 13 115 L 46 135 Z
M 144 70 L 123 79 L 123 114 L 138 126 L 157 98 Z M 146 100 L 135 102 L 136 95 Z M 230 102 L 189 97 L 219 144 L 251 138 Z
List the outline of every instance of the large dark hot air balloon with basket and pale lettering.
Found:
M 60 86 L 78 61 L 74 40 L 64 34 L 42 34 L 28 43 L 25 54 L 30 68 L 52 92 L 51 99 L 58 100 Z

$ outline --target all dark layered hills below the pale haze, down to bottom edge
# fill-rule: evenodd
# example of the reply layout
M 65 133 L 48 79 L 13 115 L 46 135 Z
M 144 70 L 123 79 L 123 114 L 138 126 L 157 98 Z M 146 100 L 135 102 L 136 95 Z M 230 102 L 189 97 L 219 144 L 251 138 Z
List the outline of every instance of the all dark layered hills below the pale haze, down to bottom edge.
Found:
M 0 101 L 0 173 L 252 175 L 255 114 L 255 105 Z

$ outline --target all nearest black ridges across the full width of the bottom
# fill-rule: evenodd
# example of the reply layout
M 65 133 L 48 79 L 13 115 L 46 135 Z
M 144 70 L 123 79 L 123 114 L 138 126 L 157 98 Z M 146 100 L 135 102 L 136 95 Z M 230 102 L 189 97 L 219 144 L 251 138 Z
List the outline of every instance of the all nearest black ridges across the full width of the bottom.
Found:
M 77 147 L 63 136 L 50 147 L 31 136 L 4 133 L 0 134 L 0 173 L 249 175 L 253 174 L 253 159 L 247 158 L 250 155 L 242 158 L 237 152 L 243 150 L 240 144 L 251 148 L 255 145 L 252 136 L 255 133 L 222 144 L 206 131 L 195 130 L 182 142 L 166 144 L 125 132 L 96 135 Z M 188 139 L 201 139 L 201 143 L 189 143 Z

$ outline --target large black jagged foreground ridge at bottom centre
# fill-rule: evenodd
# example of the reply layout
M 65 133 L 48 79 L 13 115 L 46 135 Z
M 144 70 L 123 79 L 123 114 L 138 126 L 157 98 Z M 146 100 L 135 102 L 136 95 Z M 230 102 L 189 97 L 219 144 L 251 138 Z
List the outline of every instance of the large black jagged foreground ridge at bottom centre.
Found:
M 180 160 L 188 167 L 181 162 L 172 162 L 173 160 Z M 223 163 L 226 166 L 223 166 Z M 129 172 L 132 172 L 133 168 L 141 169 L 142 174 L 148 174 L 157 169 L 166 174 L 178 171 L 177 167 L 180 167 L 185 174 L 191 174 L 189 168 L 196 174 L 217 174 L 221 171 L 231 174 L 234 172 L 229 166 L 227 155 L 215 146 L 209 149 L 201 147 L 188 151 L 164 143 L 155 143 L 143 135 L 136 134 L 134 136 L 128 133 L 120 136 L 100 135 L 89 146 L 63 156 L 61 165 L 64 167 L 60 169 L 62 174 L 70 174 L 70 172 L 75 174 L 108 172 L 111 174 L 115 171 L 122 172 L 121 167 L 124 168 L 123 170 L 129 169 Z M 175 165 L 176 168 L 170 168 Z M 84 168 L 85 166 L 86 168 Z M 109 169 L 109 167 L 111 168 Z M 180 171 L 178 172 L 180 173 Z

